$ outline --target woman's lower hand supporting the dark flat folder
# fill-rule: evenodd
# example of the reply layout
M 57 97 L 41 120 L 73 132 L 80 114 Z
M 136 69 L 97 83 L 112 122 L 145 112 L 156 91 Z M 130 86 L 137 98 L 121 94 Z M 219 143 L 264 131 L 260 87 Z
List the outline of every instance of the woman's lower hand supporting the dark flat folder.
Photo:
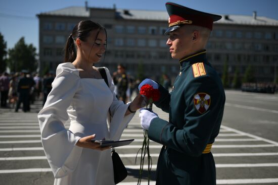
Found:
M 91 140 L 94 140 L 95 138 L 96 138 L 96 134 L 83 137 L 78 140 L 78 142 L 76 143 L 76 146 L 94 149 L 94 150 L 101 150 L 101 151 L 111 148 L 110 146 L 101 147 L 99 143 L 92 142 Z

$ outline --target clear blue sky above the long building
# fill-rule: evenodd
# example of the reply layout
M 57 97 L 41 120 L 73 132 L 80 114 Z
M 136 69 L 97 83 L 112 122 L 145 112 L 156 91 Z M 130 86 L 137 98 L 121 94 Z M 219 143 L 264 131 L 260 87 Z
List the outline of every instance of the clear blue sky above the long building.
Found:
M 8 48 L 24 36 L 26 43 L 32 43 L 38 49 L 38 19 L 36 14 L 62 9 L 70 6 L 84 6 L 85 1 L 79 0 L 1 0 L 0 1 L 0 32 L 7 41 Z M 89 1 L 89 7 L 135 10 L 164 10 L 163 0 L 99 0 Z M 277 0 L 175 0 L 171 1 L 183 6 L 215 14 L 264 16 L 278 20 Z

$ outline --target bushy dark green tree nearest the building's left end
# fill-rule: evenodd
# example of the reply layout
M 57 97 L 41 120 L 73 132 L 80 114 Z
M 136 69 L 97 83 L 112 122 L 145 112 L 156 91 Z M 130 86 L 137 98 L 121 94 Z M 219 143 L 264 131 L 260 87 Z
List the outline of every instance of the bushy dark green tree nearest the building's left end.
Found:
M 8 51 L 8 67 L 11 71 L 19 72 L 29 70 L 33 72 L 37 69 L 36 48 L 25 43 L 24 37 L 21 37 L 15 44 L 15 47 Z

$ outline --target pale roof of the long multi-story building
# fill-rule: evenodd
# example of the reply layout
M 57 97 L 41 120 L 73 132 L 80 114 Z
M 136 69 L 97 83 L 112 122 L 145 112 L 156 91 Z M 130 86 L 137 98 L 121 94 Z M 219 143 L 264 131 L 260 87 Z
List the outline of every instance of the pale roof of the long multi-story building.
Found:
M 93 7 L 94 9 L 98 9 Z M 86 11 L 85 7 L 68 7 L 60 10 L 44 12 L 39 15 L 52 16 L 76 16 L 89 17 L 90 11 Z M 242 25 L 264 25 L 278 26 L 278 20 L 253 15 L 221 15 L 222 19 L 216 24 L 242 24 Z M 150 21 L 167 21 L 168 14 L 166 11 L 147 11 L 147 10 L 127 10 L 116 9 L 116 17 L 129 20 L 150 20 Z M 256 17 L 254 19 L 254 17 Z

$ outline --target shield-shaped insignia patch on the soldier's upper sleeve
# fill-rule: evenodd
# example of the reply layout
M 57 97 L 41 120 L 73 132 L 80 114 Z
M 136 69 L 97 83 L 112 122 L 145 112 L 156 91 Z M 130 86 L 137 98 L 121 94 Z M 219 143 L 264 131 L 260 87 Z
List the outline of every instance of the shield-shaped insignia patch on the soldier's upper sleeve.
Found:
M 194 95 L 195 108 L 201 114 L 205 113 L 210 106 L 210 95 L 206 93 L 197 93 Z

